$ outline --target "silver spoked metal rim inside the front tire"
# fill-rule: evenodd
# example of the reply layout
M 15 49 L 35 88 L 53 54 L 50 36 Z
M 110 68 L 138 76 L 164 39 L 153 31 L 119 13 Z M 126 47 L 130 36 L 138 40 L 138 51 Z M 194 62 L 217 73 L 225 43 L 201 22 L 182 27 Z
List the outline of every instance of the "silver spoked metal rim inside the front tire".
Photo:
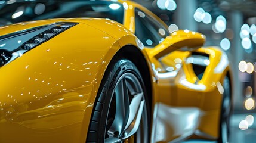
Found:
M 112 92 L 105 142 L 126 142 L 131 136 L 134 138 L 135 133 L 135 140 L 141 142 L 141 131 L 144 130 L 144 126 L 140 126 L 141 120 L 147 123 L 143 88 L 134 74 L 124 73 Z

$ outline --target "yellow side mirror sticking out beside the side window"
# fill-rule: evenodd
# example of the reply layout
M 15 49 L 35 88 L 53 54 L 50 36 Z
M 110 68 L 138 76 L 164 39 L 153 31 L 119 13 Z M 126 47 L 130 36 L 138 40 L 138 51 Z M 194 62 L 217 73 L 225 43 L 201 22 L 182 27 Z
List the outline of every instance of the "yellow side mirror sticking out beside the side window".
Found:
M 203 46 L 206 41 L 205 35 L 189 30 L 178 30 L 167 36 L 150 51 L 150 57 L 161 58 L 175 50 L 193 51 Z

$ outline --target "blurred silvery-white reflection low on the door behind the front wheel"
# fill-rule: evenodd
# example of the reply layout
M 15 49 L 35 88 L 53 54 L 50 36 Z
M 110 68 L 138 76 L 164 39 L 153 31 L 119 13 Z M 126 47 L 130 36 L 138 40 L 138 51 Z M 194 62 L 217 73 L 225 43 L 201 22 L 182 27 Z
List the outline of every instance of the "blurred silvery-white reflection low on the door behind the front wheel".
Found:
M 180 141 L 192 135 L 198 128 L 200 110 L 196 107 L 172 107 L 166 104 L 156 104 L 153 142 L 166 142 L 171 139 Z

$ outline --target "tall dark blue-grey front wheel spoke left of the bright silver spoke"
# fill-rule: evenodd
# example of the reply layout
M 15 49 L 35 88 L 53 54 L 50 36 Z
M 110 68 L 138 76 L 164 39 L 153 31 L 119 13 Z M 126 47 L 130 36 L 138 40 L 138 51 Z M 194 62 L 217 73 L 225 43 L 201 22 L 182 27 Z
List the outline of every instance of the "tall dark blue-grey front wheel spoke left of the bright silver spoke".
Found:
M 122 77 L 122 79 L 119 81 L 118 85 L 115 88 L 115 96 L 116 96 L 115 119 L 108 133 L 112 136 L 117 137 L 121 135 L 129 117 L 129 96 L 128 96 L 128 89 L 127 89 L 127 82 L 124 76 Z

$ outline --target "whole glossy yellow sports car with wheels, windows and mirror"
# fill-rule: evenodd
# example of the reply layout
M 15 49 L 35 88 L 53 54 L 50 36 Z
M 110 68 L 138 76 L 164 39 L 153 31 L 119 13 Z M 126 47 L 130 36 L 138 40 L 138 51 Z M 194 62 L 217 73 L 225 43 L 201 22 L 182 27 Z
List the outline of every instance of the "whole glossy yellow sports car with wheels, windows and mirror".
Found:
M 132 1 L 0 3 L 1 143 L 227 142 L 229 61 L 201 33 Z

